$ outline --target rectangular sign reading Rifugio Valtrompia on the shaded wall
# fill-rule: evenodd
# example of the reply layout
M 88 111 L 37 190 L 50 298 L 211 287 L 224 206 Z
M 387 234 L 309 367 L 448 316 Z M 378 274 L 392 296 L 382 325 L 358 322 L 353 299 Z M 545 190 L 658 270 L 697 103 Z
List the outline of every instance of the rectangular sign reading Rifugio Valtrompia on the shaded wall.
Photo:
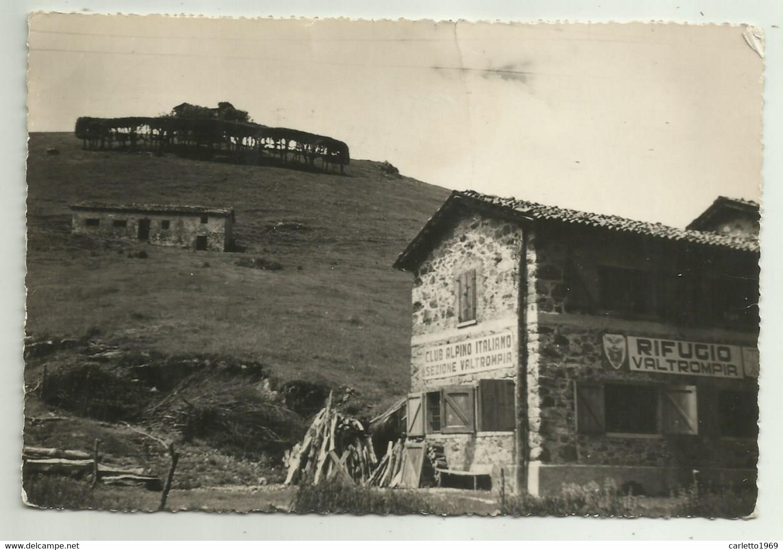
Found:
M 628 367 L 637 372 L 743 378 L 742 347 L 627 336 Z

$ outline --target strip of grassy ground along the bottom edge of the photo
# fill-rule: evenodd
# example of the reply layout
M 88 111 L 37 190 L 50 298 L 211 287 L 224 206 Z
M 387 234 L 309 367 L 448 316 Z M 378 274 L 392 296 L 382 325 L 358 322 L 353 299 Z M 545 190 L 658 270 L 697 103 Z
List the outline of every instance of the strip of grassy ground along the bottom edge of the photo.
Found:
M 24 482 L 27 499 L 47 508 L 157 510 L 160 493 L 138 487 L 90 489 L 88 479 L 38 474 Z M 749 516 L 756 501 L 752 491 L 687 489 L 669 498 L 619 494 L 612 483 L 569 485 L 561 494 L 518 496 L 500 502 L 496 494 L 458 490 L 391 490 L 321 483 L 316 487 L 208 487 L 171 491 L 169 510 L 290 511 L 355 514 L 462 514 L 509 516 L 603 516 L 737 518 Z

